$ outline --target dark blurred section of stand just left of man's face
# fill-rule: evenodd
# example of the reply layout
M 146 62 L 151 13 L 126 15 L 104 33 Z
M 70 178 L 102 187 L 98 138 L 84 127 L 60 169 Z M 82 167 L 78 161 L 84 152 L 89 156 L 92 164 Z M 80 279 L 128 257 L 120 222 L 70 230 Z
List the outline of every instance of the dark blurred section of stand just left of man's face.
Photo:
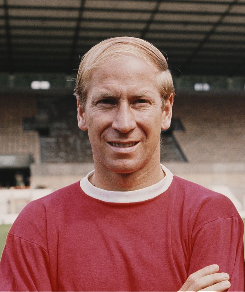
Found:
M 40 113 L 45 117 L 40 121 Z M 93 162 L 87 132 L 77 125 L 76 100 L 72 96 L 39 98 L 37 129 L 46 124 L 46 134 L 40 132 L 41 157 L 46 163 Z

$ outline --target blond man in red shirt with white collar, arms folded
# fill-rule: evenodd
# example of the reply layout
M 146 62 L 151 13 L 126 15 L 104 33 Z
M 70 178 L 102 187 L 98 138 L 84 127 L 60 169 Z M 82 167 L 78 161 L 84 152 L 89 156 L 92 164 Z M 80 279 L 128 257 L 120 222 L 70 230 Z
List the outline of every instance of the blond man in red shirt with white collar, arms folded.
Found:
M 21 212 L 2 289 L 243 291 L 233 204 L 160 165 L 174 88 L 159 50 L 131 37 L 99 43 L 81 61 L 76 97 L 95 170 Z

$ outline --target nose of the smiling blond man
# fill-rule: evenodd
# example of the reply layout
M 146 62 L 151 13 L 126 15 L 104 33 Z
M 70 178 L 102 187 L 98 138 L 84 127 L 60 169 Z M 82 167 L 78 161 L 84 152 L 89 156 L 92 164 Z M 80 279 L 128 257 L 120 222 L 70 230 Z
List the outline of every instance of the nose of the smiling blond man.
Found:
M 136 127 L 133 110 L 127 102 L 118 105 L 112 121 L 112 129 L 128 133 Z

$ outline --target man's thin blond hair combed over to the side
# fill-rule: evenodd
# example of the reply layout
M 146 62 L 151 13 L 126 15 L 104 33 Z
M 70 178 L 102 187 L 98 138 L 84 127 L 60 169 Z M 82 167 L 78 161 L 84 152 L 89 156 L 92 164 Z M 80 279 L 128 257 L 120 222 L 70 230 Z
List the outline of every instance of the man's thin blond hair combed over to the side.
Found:
M 83 110 L 85 110 L 86 94 L 92 70 L 115 62 L 122 55 L 132 54 L 154 64 L 159 70 L 157 83 L 159 84 L 163 108 L 165 107 L 165 101 L 171 93 L 175 94 L 172 75 L 165 57 L 159 49 L 146 40 L 122 36 L 99 42 L 82 57 L 76 79 L 75 96 L 78 98 Z

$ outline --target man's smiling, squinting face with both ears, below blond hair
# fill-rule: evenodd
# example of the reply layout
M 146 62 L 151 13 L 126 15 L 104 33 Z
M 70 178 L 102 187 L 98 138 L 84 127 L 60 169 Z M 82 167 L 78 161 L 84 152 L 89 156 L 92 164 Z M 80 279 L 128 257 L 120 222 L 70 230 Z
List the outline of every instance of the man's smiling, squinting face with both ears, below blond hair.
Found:
M 132 173 L 159 164 L 160 131 L 170 125 L 173 97 L 163 110 L 156 77 L 156 67 L 135 56 L 92 71 L 78 121 L 88 130 L 95 166 Z

